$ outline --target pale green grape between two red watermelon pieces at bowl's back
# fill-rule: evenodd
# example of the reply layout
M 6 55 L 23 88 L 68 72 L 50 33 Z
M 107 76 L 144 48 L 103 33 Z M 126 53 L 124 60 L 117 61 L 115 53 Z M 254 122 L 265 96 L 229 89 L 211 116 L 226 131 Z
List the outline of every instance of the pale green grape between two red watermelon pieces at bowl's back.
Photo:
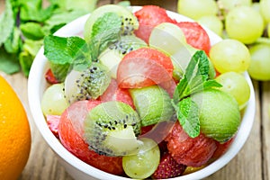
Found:
M 160 49 L 168 55 L 175 54 L 184 44 L 184 32 L 174 23 L 158 24 L 149 37 L 150 47 Z

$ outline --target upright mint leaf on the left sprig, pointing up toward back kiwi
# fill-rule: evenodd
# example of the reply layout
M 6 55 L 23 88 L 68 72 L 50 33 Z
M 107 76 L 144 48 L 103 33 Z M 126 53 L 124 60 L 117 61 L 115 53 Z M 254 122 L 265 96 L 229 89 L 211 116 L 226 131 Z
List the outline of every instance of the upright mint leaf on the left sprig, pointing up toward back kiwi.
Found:
M 120 37 L 121 18 L 115 13 L 106 13 L 93 24 L 89 42 L 92 59 L 96 59 L 108 45 Z

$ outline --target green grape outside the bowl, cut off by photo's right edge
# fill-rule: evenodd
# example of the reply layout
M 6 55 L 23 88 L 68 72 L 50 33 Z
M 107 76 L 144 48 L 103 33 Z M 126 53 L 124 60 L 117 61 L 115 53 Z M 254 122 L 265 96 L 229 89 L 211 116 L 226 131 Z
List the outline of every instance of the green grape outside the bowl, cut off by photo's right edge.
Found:
M 249 48 L 251 63 L 247 69 L 248 74 L 260 81 L 270 80 L 270 45 L 257 44 Z

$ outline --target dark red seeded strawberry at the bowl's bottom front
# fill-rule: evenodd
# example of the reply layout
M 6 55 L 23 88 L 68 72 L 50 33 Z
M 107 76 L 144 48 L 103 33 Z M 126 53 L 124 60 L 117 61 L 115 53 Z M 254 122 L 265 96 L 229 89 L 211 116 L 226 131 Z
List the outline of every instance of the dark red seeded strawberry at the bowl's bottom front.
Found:
M 182 175 L 184 173 L 185 165 L 178 164 L 175 159 L 168 153 L 164 153 L 157 166 L 157 170 L 152 176 L 154 179 L 166 179 Z

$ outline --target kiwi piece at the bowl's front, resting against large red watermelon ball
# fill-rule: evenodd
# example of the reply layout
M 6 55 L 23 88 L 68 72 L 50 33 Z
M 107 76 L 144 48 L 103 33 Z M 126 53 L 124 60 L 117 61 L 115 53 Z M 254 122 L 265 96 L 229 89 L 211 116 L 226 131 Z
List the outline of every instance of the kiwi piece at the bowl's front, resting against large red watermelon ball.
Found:
M 89 148 L 101 155 L 137 153 L 139 133 L 139 115 L 126 103 L 100 103 L 85 118 L 85 140 Z

